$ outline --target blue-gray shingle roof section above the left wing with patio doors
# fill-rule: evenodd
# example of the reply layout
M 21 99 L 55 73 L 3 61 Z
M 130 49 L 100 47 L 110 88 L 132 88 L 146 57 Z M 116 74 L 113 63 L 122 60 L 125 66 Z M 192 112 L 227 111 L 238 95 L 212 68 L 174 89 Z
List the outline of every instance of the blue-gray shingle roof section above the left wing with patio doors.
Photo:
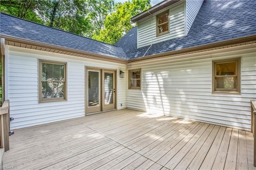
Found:
M 42 43 L 83 50 L 111 57 L 126 57 L 126 54 L 121 47 L 101 43 L 100 41 L 95 41 L 73 33 L 22 20 L 14 16 L 1 13 L 0 22 L 0 33 L 3 35 L 40 41 Z

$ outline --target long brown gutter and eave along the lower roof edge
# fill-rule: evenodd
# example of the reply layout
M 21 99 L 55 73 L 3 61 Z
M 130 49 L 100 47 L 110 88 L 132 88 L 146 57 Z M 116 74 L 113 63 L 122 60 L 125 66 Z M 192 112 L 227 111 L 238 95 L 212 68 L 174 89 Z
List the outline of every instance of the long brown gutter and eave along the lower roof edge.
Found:
M 64 52 L 81 54 L 81 55 L 83 55 L 83 57 L 94 59 L 94 60 L 101 60 L 101 61 L 108 61 L 108 62 L 122 63 L 122 64 L 140 62 L 140 61 L 146 61 L 146 60 L 153 60 L 155 58 L 165 58 L 165 57 L 170 57 L 173 55 L 182 55 L 182 54 L 186 54 L 186 53 L 197 53 L 197 52 L 202 52 L 205 50 L 211 50 L 211 49 L 213 50 L 216 48 L 221 48 L 221 47 L 230 46 L 230 45 L 238 45 L 238 44 L 242 44 L 242 43 L 250 43 L 250 44 L 256 43 L 256 35 L 251 35 L 251 36 L 240 37 L 240 38 L 235 38 L 235 39 L 230 39 L 230 40 L 225 40 L 225 41 L 219 41 L 216 43 L 205 44 L 205 45 L 195 46 L 195 47 L 189 47 L 189 48 L 184 48 L 184 49 L 179 49 L 179 50 L 172 50 L 170 52 L 153 54 L 153 55 L 148 55 L 148 56 L 144 56 L 144 57 L 138 57 L 138 58 L 126 60 L 126 59 L 122 59 L 122 58 L 116 58 L 116 57 L 111 57 L 111 56 L 106 56 L 106 55 L 101 55 L 101 54 L 85 52 L 83 50 L 77 50 L 77 49 L 72 49 L 72 48 L 68 48 L 68 47 L 46 44 L 46 43 L 41 43 L 39 41 L 27 40 L 27 39 L 13 37 L 13 36 L 7 36 L 7 35 L 0 34 L 0 37 L 4 38 L 5 41 L 12 41 L 14 43 L 24 43 L 24 44 L 30 44 L 30 45 L 38 46 L 38 47 L 53 48 L 53 49 L 63 50 Z

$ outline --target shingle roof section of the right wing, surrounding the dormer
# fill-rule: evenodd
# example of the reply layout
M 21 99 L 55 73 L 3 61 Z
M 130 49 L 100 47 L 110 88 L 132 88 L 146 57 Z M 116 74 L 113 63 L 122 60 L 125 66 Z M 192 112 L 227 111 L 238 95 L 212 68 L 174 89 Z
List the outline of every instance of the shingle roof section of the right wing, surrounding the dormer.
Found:
M 250 35 L 256 35 L 256 1 L 205 0 L 187 36 L 153 44 L 146 56 Z M 116 43 L 127 58 L 141 57 L 149 48 L 137 49 L 134 39 L 137 39 L 137 28 Z

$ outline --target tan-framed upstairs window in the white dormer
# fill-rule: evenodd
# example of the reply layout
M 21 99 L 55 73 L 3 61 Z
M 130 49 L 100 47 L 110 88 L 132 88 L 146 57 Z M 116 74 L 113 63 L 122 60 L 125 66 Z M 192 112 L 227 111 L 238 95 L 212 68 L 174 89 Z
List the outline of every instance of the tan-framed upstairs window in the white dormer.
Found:
M 169 33 L 169 11 L 165 11 L 156 16 L 156 36 Z

